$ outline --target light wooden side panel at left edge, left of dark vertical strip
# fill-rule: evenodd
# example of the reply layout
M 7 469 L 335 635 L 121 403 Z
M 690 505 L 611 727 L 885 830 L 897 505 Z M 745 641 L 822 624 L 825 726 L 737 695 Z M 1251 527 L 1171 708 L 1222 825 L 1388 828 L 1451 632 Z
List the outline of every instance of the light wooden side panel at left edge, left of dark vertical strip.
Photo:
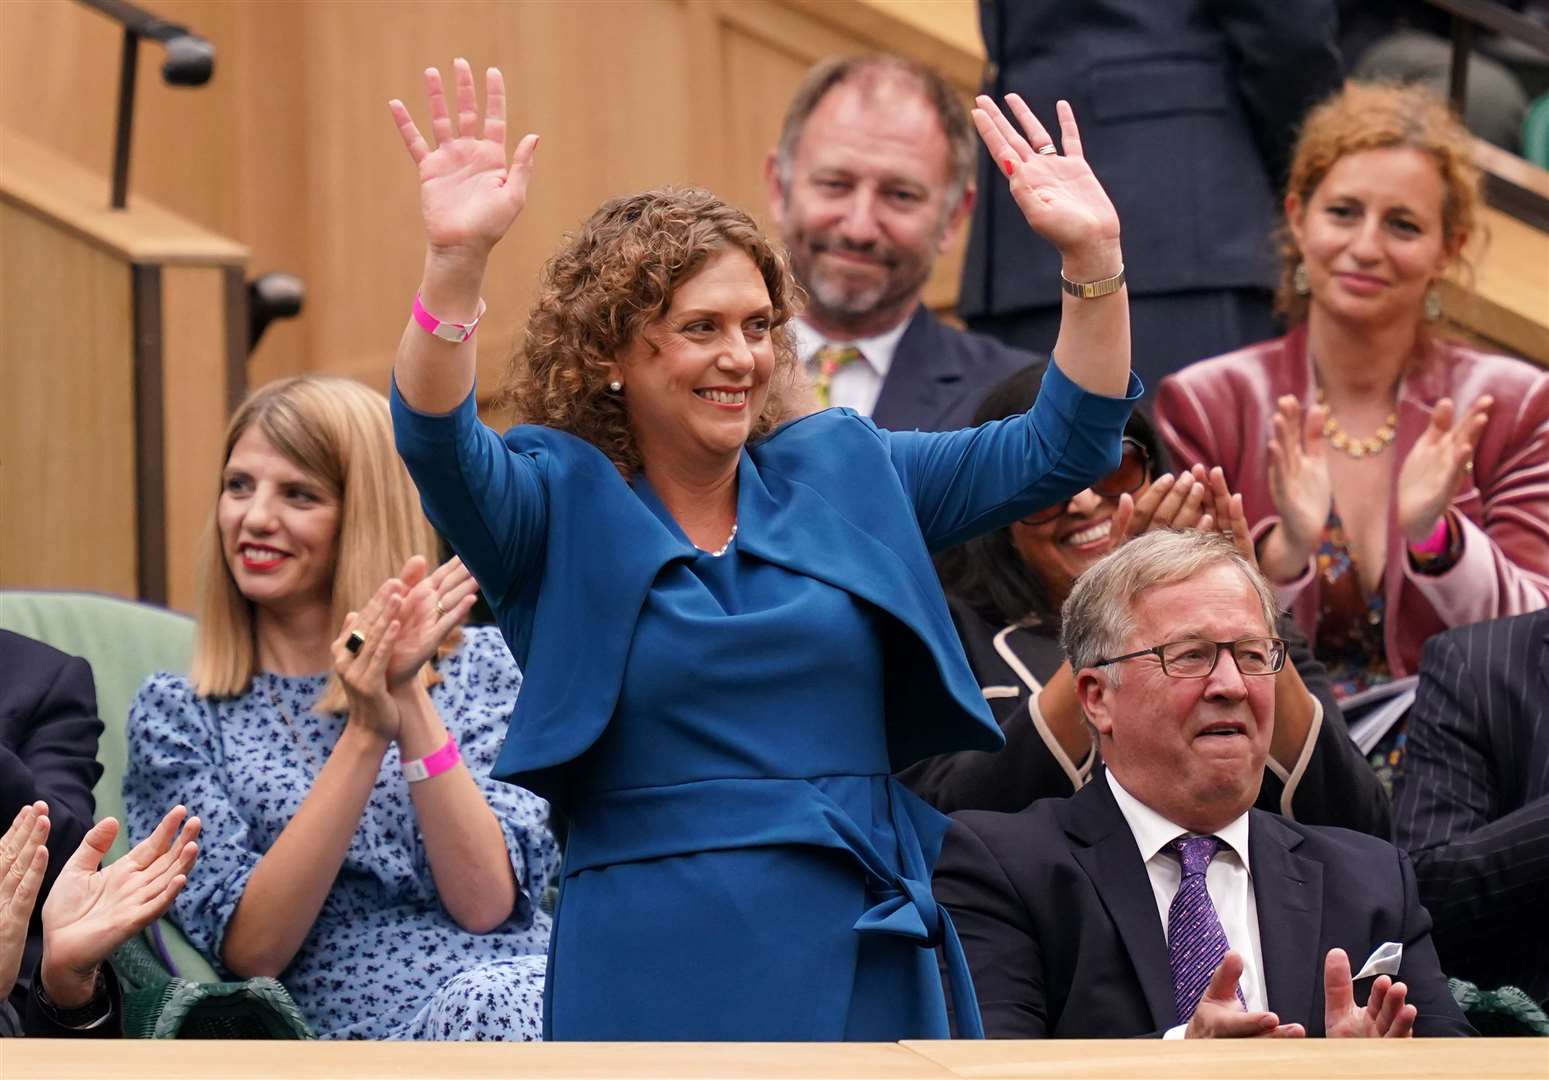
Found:
M 127 267 L 0 203 L 0 589 L 135 595 Z

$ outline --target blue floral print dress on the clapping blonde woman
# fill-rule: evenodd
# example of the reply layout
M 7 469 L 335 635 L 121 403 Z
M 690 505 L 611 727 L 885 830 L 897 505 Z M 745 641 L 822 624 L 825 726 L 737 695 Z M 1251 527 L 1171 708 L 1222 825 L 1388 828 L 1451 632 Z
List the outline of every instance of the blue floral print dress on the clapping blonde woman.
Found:
M 550 920 L 538 906 L 559 863 L 548 804 L 489 767 L 522 676 L 500 635 L 463 631 L 431 690 L 505 834 L 520 891 L 488 934 L 462 930 L 431 879 L 397 745 L 311 933 L 280 981 L 324 1038 L 536 1040 Z M 124 801 L 133 835 L 178 803 L 203 823 L 200 857 L 173 917 L 222 972 L 226 925 L 259 858 L 301 809 L 344 731 L 311 703 L 325 676 L 259 674 L 242 697 L 194 694 L 152 676 L 130 710 Z

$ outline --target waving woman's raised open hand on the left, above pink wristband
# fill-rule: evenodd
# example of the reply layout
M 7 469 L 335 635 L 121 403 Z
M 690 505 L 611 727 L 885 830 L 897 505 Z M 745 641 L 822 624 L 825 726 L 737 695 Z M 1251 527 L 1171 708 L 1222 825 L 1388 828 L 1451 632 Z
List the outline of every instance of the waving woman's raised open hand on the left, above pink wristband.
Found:
M 479 116 L 474 73 L 468 60 L 452 62 L 457 91 L 455 118 L 446 107 L 441 73 L 424 71 L 431 110 L 432 147 L 398 99 L 389 101 L 404 149 L 420 170 L 420 214 L 432 251 L 483 259 L 500 242 L 527 205 L 538 136 L 525 135 L 516 153 L 505 156 L 505 79 L 499 68 L 485 71 L 485 113 Z

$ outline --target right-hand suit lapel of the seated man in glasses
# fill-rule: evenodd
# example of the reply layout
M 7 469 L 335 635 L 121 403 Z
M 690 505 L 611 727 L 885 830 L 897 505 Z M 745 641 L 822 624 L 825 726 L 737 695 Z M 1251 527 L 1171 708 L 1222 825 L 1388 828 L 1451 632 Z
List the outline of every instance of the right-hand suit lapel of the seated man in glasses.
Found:
M 1250 812 L 1248 869 L 1259 917 L 1269 1009 L 1283 1024 L 1323 1034 L 1323 865 L 1295 854 L 1301 837 L 1272 813 Z M 1351 958 L 1360 962 L 1360 958 Z M 1312 962 L 1309 962 L 1312 961 Z M 1314 1007 L 1317 1013 L 1314 1015 Z

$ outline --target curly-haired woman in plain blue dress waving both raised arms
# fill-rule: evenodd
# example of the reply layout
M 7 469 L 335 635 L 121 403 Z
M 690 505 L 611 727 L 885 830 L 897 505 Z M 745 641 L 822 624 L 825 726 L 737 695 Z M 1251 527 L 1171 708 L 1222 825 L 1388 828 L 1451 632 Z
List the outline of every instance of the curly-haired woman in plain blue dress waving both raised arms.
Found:
M 527 672 L 496 775 L 568 826 L 545 984 L 564 1040 L 897 1040 L 977 1032 L 931 899 L 946 820 L 891 773 L 1001 736 L 929 552 L 1114 468 L 1139 386 L 1118 220 L 1061 107 L 974 121 L 1070 280 L 1032 412 L 888 432 L 802 412 L 795 285 L 702 191 L 615 198 L 544 271 L 507 390 L 479 421 L 489 251 L 527 198 L 505 91 L 426 71 L 428 253 L 395 364 L 398 449 Z M 1080 282 L 1080 284 L 1078 284 Z M 1086 284 L 1087 288 L 1083 288 Z M 1086 296 L 1081 296 L 1086 294 Z

